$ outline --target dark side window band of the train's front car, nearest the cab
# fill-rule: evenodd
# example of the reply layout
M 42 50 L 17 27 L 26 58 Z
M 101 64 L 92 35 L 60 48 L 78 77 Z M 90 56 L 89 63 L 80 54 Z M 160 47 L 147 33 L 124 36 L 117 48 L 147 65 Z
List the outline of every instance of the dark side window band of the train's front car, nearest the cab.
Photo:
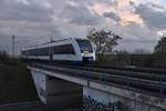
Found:
M 54 46 L 53 54 L 75 54 L 73 44 Z

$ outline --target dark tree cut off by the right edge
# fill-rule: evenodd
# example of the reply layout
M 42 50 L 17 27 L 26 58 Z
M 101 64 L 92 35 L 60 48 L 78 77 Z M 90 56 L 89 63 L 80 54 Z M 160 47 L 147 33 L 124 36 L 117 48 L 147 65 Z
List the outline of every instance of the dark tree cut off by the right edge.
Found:
M 155 47 L 155 53 L 166 53 L 166 37 L 162 37 Z

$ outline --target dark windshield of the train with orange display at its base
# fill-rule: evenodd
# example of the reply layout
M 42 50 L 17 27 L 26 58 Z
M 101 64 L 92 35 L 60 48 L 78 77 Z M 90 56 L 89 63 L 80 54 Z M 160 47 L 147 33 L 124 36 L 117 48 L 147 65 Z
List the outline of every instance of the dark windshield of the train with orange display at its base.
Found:
M 89 40 L 76 40 L 82 53 L 92 53 L 93 49 Z

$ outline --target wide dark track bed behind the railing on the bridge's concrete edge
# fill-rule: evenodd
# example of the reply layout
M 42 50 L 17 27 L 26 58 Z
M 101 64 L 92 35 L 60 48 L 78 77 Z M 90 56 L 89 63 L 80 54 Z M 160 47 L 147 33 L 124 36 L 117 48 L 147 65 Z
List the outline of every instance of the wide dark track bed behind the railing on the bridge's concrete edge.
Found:
M 102 69 L 72 65 L 48 65 L 32 64 L 33 67 L 42 68 L 49 71 L 55 71 L 63 74 L 70 74 L 77 78 L 91 79 L 106 84 L 114 84 L 131 90 L 143 91 L 154 95 L 166 98 L 166 75 L 158 73 L 147 73 L 137 71 L 126 71 L 117 69 Z

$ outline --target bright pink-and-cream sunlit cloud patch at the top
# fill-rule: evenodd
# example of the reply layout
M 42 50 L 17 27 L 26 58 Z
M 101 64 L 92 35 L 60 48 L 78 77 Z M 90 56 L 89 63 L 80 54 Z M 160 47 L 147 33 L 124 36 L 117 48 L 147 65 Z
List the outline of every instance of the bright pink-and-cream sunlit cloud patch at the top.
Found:
M 143 24 L 143 20 L 139 14 L 135 13 L 134 6 L 138 4 L 139 0 L 112 0 L 107 2 L 95 2 L 90 7 L 93 11 L 110 19 L 118 20 L 121 26 L 127 26 L 129 23 Z

